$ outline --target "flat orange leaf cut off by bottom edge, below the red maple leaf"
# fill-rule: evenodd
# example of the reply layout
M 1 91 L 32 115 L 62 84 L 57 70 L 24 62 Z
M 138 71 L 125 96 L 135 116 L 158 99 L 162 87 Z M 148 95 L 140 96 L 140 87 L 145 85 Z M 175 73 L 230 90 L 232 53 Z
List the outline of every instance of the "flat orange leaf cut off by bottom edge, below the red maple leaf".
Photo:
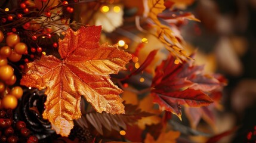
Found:
M 169 131 L 161 133 L 158 139 L 155 140 L 149 133 L 146 135 L 145 143 L 175 143 L 176 139 L 180 136 L 180 132 Z

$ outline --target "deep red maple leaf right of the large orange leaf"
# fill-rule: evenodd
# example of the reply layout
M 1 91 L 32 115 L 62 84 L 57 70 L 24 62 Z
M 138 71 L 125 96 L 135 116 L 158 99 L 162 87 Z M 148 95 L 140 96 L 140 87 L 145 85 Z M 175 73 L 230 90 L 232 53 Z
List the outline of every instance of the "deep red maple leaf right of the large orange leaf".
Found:
M 203 73 L 203 66 L 195 66 L 193 61 L 175 64 L 174 57 L 156 68 L 152 81 L 154 102 L 162 110 L 171 111 L 181 119 L 181 105 L 202 107 L 214 102 L 208 93 L 221 87 L 221 82 L 214 76 Z

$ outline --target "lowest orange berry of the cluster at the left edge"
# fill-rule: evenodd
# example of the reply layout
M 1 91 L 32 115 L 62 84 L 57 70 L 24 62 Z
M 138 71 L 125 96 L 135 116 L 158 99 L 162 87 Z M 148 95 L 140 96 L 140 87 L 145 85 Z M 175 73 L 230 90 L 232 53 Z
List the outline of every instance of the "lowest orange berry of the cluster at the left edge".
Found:
M 17 107 L 18 100 L 16 97 L 14 97 L 14 95 L 7 94 L 4 98 L 2 98 L 1 104 L 4 108 L 14 109 Z

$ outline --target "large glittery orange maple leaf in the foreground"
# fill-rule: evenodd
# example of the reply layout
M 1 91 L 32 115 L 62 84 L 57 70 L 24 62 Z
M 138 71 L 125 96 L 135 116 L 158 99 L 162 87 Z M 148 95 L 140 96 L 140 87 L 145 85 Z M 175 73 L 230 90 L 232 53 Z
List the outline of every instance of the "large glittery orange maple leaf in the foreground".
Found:
M 125 70 L 131 55 L 117 45 L 99 44 L 101 26 L 68 29 L 59 40 L 61 59 L 42 55 L 38 61 L 27 64 L 21 85 L 45 89 L 44 119 L 62 136 L 68 136 L 73 119 L 81 117 L 81 95 L 98 112 L 125 113 L 122 90 L 110 80 L 109 74 Z

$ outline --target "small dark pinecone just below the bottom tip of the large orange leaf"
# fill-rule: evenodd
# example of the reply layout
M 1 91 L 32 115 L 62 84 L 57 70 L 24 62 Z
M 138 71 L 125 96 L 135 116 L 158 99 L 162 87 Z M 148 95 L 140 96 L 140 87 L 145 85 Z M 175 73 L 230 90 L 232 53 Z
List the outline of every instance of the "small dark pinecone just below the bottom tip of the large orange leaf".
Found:
M 92 135 L 90 130 L 84 129 L 81 126 L 74 126 L 74 128 L 71 130 L 69 134 L 69 138 L 74 140 L 75 138 L 78 138 L 79 141 L 90 141 L 92 139 Z

